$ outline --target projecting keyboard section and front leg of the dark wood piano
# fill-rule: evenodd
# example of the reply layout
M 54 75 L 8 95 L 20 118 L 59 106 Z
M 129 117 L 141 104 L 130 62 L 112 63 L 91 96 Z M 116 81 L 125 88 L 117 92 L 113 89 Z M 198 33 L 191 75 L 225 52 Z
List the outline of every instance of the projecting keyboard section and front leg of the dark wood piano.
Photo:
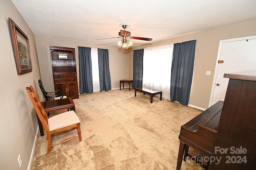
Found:
M 205 156 L 211 156 L 214 151 L 214 144 L 217 137 L 217 128 L 220 121 L 220 115 L 222 112 L 223 101 L 218 101 L 210 108 L 206 109 L 203 113 L 196 116 L 194 119 L 182 125 L 180 128 L 180 148 L 178 154 L 177 170 L 181 168 L 181 163 L 184 155 L 184 161 L 186 157 L 192 158 L 192 155 L 188 153 L 189 146 L 198 150 Z M 199 163 L 199 162 L 198 162 Z M 208 164 L 205 165 L 200 162 L 204 168 L 208 168 Z

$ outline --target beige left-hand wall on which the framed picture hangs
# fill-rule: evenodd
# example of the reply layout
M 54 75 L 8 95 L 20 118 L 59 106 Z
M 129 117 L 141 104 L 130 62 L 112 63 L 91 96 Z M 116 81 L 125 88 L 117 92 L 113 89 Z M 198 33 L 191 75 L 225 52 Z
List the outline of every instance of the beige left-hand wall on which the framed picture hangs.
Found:
M 18 75 L 10 36 L 8 18 L 28 36 L 32 61 L 32 72 Z M 11 0 L 3 0 L 0 5 L 1 30 L 1 120 L 0 120 L 0 169 L 25 170 L 28 168 L 36 130 L 36 114 L 25 87 L 34 85 L 40 78 L 34 34 L 14 6 Z M 39 94 L 40 91 L 39 91 Z M 22 167 L 18 164 L 18 155 L 22 158 Z

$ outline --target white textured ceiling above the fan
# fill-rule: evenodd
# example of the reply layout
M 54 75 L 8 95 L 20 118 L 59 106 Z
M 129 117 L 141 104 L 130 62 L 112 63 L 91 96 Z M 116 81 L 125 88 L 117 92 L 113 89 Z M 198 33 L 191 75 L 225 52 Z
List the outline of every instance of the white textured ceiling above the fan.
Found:
M 256 20 L 256 0 L 12 0 L 35 35 L 116 45 L 122 24 L 152 42 Z M 15 22 L 15 21 L 14 21 Z M 256 29 L 256 28 L 255 28 Z M 100 38 L 112 38 L 96 40 Z M 134 45 L 148 43 L 132 40 Z

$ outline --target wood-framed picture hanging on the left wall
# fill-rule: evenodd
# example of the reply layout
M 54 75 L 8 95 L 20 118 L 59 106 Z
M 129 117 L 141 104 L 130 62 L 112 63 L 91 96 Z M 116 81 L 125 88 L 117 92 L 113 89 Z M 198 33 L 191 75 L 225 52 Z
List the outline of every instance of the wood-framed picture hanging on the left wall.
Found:
M 12 21 L 11 18 L 8 18 L 8 20 L 10 25 L 12 48 L 13 48 L 17 73 L 18 75 L 29 73 L 32 71 L 32 63 L 31 63 L 31 57 L 30 57 L 28 37 Z

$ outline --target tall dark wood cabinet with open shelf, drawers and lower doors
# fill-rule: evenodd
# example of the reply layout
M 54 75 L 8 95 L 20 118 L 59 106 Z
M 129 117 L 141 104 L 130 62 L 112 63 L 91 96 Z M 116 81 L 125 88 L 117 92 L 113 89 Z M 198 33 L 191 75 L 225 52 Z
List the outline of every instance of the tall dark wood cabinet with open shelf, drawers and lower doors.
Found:
M 62 90 L 63 95 L 78 98 L 75 49 L 50 46 L 50 56 L 55 91 Z

